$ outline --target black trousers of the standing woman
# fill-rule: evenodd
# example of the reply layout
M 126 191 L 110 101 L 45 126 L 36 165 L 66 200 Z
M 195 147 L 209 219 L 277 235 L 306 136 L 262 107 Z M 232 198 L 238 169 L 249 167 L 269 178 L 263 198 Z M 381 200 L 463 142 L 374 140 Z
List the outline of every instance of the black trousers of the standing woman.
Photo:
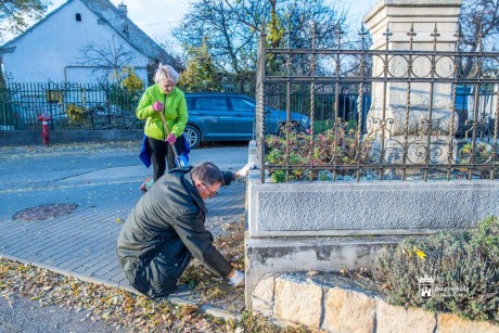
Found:
M 175 148 L 177 149 L 177 153 L 180 155 L 183 149 L 183 136 L 177 138 L 177 141 L 175 141 Z M 168 170 L 177 167 L 177 165 L 175 164 L 174 150 L 171 149 L 171 145 L 168 142 L 148 137 L 148 150 L 151 153 L 151 163 L 153 164 L 154 168 L 154 181 L 156 181 L 159 177 L 162 177 L 165 174 L 167 165 Z

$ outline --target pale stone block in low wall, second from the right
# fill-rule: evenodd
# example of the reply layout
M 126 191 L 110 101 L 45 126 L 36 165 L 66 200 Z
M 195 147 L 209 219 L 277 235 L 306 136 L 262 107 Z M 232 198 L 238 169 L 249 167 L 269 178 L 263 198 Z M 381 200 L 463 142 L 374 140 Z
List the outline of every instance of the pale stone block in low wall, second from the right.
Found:
M 376 333 L 433 333 L 436 328 L 435 313 L 422 309 L 405 309 L 404 307 L 392 306 L 382 299 L 378 299 L 376 321 Z

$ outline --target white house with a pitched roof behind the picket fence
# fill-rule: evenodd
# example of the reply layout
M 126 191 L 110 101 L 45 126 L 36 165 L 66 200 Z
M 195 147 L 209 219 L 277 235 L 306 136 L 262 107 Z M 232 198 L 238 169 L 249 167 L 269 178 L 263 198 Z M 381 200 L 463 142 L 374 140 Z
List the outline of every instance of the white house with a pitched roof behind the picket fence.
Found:
M 113 67 L 148 69 L 177 62 L 107 0 L 68 0 L 2 48 L 11 82 L 101 82 Z M 178 68 L 179 69 L 179 68 Z

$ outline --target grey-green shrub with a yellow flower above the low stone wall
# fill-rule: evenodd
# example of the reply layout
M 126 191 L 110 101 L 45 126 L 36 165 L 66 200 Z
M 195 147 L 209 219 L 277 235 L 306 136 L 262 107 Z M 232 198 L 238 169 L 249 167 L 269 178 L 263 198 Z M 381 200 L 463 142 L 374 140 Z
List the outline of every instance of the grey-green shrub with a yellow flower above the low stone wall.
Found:
M 425 276 L 435 285 L 426 300 L 418 285 Z M 499 322 L 499 218 L 472 230 L 406 239 L 383 252 L 374 278 L 391 304 Z

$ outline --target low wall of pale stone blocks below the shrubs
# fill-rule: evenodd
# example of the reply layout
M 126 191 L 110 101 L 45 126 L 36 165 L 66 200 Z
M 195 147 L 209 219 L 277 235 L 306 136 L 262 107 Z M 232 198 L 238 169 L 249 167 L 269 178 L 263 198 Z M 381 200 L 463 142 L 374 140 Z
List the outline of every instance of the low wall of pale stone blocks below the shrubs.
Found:
M 392 306 L 360 285 L 317 272 L 268 276 L 252 298 L 255 311 L 280 324 L 327 332 L 499 332 L 489 322 Z

